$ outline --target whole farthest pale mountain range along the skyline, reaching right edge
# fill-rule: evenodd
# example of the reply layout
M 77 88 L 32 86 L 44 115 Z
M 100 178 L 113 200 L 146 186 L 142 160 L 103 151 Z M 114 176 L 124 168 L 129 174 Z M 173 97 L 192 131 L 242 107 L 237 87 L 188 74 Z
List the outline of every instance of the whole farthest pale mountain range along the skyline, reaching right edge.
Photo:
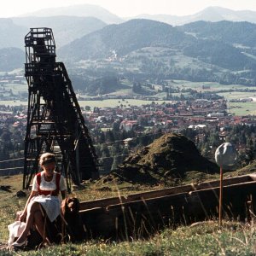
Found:
M 160 22 L 165 22 L 173 26 L 179 26 L 190 22 L 195 22 L 198 20 L 207 21 L 220 21 L 220 20 L 230 20 L 230 21 L 248 21 L 256 23 L 256 12 L 250 10 L 236 11 L 232 9 L 221 8 L 217 6 L 208 7 L 202 9 L 200 12 L 194 15 L 137 15 L 136 17 L 120 18 L 117 15 L 112 14 L 107 9 L 103 9 L 100 6 L 93 4 L 79 4 L 67 7 L 49 8 L 41 9 L 36 12 L 27 14 L 26 16 L 56 16 L 56 15 L 69 15 L 69 16 L 80 16 L 80 17 L 96 17 L 99 20 L 104 21 L 107 24 L 119 24 L 125 20 L 134 19 L 147 19 L 147 20 L 157 20 Z

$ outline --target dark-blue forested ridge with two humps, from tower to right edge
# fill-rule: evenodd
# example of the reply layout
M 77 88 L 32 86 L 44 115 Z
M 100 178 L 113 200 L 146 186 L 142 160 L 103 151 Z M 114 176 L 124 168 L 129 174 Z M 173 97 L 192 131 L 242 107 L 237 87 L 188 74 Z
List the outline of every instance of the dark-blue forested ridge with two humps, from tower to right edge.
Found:
M 230 70 L 252 68 L 255 64 L 256 25 L 247 22 L 198 21 L 186 26 L 173 27 L 154 20 L 129 20 L 119 25 L 105 26 L 83 38 L 67 44 L 59 55 L 68 60 L 108 58 L 113 52 L 125 56 L 138 49 L 161 47 L 172 49 L 170 57 L 183 55 Z M 247 49 L 235 47 L 247 46 Z

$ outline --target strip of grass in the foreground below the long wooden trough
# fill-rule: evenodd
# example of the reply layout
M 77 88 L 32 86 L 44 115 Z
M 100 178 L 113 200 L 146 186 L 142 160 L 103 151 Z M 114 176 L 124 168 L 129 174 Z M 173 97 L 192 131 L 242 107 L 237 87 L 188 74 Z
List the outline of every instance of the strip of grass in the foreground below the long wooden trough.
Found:
M 224 223 L 219 228 L 217 222 L 206 222 L 177 230 L 166 229 L 148 240 L 67 243 L 17 255 L 255 255 L 255 236 L 254 225 Z

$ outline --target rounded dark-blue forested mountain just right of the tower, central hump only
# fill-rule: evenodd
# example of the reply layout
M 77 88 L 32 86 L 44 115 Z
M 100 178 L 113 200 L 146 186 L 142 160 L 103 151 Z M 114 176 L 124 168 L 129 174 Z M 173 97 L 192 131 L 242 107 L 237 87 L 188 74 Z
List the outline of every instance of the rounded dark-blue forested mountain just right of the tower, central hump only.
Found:
M 196 41 L 166 23 L 154 20 L 129 20 L 119 25 L 109 25 L 77 39 L 59 50 L 59 55 L 73 61 L 108 58 L 113 52 L 124 56 L 134 50 L 160 46 L 178 48 Z

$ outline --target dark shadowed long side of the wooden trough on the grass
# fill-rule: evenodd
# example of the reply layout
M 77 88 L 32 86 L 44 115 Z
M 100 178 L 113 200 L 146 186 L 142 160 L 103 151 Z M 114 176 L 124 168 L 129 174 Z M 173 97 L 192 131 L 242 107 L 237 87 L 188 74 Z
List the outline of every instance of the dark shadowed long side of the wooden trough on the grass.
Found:
M 255 210 L 256 181 L 224 186 L 224 215 L 247 218 L 247 201 Z M 147 236 L 166 225 L 191 224 L 218 217 L 218 187 L 81 211 L 90 237 Z M 89 236 L 88 235 L 88 236 Z

